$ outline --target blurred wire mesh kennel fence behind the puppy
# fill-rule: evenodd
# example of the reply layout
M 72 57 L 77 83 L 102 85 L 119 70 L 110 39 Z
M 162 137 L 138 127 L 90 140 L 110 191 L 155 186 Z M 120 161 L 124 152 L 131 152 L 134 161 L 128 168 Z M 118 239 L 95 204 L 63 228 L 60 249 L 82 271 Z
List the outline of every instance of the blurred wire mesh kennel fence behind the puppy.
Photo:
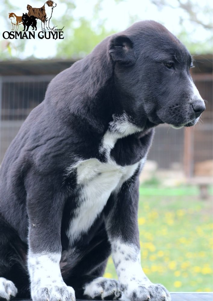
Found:
M 23 121 L 43 101 L 47 85 L 53 77 L 54 75 L 19 75 L 0 78 L 0 163 Z M 196 162 L 212 159 L 212 79 L 200 77 L 196 79 L 196 85 L 208 104 L 202 124 L 193 131 L 194 151 L 190 157 L 192 172 Z M 171 169 L 175 165 L 184 169 L 186 130 L 176 130 L 168 125 L 158 126 L 148 159 L 155 160 L 159 168 Z

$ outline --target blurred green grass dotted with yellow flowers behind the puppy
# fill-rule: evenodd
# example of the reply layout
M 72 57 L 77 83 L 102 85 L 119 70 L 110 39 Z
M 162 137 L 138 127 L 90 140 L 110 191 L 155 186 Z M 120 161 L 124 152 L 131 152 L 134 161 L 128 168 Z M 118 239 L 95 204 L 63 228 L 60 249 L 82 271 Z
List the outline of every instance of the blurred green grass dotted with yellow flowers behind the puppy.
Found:
M 197 187 L 141 186 L 138 223 L 141 264 L 153 283 L 177 292 L 213 290 L 212 197 L 200 200 Z M 105 277 L 117 279 L 111 258 Z

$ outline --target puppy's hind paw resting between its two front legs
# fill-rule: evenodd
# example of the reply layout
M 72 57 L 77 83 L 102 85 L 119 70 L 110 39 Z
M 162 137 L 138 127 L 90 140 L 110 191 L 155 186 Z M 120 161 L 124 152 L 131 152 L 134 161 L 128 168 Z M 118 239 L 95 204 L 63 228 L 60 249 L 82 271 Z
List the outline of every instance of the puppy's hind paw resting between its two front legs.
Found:
M 121 290 L 117 280 L 98 277 L 85 285 L 83 294 L 87 299 L 118 300 Z

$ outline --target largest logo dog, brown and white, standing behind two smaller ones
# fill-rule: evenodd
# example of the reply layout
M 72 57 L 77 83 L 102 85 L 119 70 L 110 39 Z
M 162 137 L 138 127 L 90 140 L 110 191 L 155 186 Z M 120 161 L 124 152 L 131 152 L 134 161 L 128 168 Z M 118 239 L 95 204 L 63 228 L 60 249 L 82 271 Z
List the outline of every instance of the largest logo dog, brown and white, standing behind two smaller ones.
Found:
M 42 31 L 45 31 L 45 26 L 47 30 L 52 30 L 49 28 L 49 20 L 52 17 L 53 8 L 56 7 L 56 3 L 52 0 L 45 2 L 41 8 L 33 8 L 31 5 L 27 5 L 28 16 L 34 16 L 41 20 Z M 48 24 L 47 24 L 48 21 Z

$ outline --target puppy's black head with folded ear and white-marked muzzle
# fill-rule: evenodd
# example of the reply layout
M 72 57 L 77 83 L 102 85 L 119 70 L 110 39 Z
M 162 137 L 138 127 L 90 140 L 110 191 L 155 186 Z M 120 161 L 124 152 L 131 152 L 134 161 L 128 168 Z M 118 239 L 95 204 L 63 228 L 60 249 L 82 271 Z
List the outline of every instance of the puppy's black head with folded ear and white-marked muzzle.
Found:
M 190 75 L 192 56 L 164 26 L 154 21 L 135 23 L 112 36 L 109 54 L 119 110 L 143 126 L 168 123 L 175 128 L 193 126 L 205 110 Z

